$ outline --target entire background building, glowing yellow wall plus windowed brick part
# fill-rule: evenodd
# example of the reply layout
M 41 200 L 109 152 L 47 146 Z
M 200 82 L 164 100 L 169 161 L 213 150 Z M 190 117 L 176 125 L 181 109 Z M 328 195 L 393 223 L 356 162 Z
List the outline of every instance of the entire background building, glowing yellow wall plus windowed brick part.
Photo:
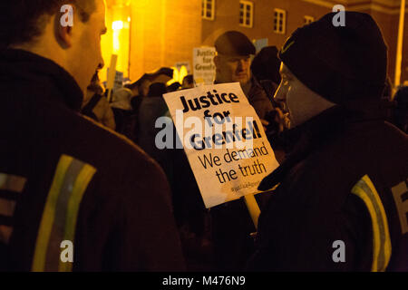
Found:
M 108 34 L 102 37 L 106 68 L 118 54 L 117 70 L 132 81 L 143 73 L 190 63 L 195 47 L 213 46 L 219 34 L 238 30 L 278 48 L 297 27 L 331 12 L 335 5 L 371 14 L 388 45 L 393 81 L 401 0 L 106 0 Z M 406 10 L 408 13 L 408 9 Z M 408 18 L 408 14 L 405 14 Z M 401 82 L 408 80 L 408 19 L 404 25 Z

